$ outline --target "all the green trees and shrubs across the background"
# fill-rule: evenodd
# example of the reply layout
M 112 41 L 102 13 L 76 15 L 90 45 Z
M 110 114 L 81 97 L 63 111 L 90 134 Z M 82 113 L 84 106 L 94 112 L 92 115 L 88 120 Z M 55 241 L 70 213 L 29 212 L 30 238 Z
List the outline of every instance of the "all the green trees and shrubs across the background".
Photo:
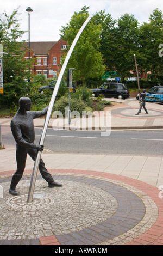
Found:
M 30 97 L 34 110 L 41 110 L 49 105 L 52 96 L 50 90 L 43 95 L 38 93 L 40 86 L 51 82 L 46 80 L 45 76 L 34 76 L 30 83 L 25 81 L 29 75 L 27 66 L 32 65 L 32 61 L 24 60 L 24 53 L 28 49 L 24 48 L 23 42 L 17 41 L 25 33 L 20 29 L 17 16 L 18 8 L 11 15 L 4 11 L 0 16 L 0 44 L 3 45 L 3 51 L 8 53 L 3 56 L 4 94 L 0 94 L 0 108 L 8 108 L 10 113 L 17 111 L 21 96 Z M 83 7 L 78 13 L 74 12 L 67 26 L 62 26 L 61 36 L 68 42 L 68 48 L 88 16 L 89 7 Z M 106 82 L 108 75 L 120 76 L 129 89 L 137 89 L 137 81 L 124 79 L 136 76 L 134 54 L 139 64 L 139 74 L 151 72 L 148 76 L 151 81 L 140 80 L 140 88 L 152 88 L 160 82 L 163 84 L 163 57 L 159 56 L 159 46 L 162 43 L 161 10 L 155 9 L 148 22 L 142 25 L 133 14 L 126 13 L 117 20 L 112 19 L 111 14 L 105 14 L 104 10 L 94 14 L 80 36 L 67 65 L 67 69 L 76 68 L 73 71 L 73 80 L 82 84 L 82 87 L 77 86 L 76 93 L 71 93 L 71 105 L 76 104 L 78 109 L 102 109 L 104 101 L 92 99 L 87 88 L 101 86 Z M 62 56 L 62 60 L 65 57 L 66 55 Z M 66 103 L 67 96 L 68 88 L 62 83 L 56 103 L 59 104 L 61 99 Z

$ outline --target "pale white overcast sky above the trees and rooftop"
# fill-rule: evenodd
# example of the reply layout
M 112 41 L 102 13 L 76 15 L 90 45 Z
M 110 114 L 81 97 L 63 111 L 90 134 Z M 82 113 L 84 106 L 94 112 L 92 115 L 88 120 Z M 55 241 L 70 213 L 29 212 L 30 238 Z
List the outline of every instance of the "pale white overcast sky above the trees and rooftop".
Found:
M 11 15 L 18 7 L 17 15 L 20 28 L 28 31 L 28 13 L 26 9 L 31 7 L 30 14 L 30 41 L 58 41 L 60 29 L 66 26 L 74 12 L 79 12 L 82 7 L 90 7 L 89 14 L 105 10 L 113 19 L 119 19 L 123 14 L 134 14 L 140 24 L 148 22 L 150 14 L 158 8 L 163 11 L 162 0 L 5 0 L 1 3 L 0 15 L 7 12 Z M 28 41 L 28 32 L 18 41 Z

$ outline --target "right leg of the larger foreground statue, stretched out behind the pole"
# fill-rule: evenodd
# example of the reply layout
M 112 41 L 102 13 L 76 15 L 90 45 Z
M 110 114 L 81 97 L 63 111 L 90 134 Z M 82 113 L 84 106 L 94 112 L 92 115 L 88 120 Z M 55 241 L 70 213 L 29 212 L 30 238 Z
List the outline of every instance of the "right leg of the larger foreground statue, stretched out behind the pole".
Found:
M 30 150 L 28 150 L 28 154 L 35 161 L 37 150 L 36 149 L 30 149 Z M 55 186 L 60 187 L 60 186 L 62 186 L 62 184 L 60 184 L 59 182 L 54 181 L 53 177 L 51 176 L 51 174 L 46 169 L 45 163 L 43 162 L 42 159 L 40 160 L 39 170 L 40 170 L 42 178 L 45 179 L 48 182 L 49 187 L 55 187 Z

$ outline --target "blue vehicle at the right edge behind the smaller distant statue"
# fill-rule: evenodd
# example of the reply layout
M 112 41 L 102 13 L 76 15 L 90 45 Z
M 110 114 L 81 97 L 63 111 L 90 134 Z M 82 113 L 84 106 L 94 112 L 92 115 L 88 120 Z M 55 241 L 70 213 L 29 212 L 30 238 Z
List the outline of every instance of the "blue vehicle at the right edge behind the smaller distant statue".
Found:
M 136 99 L 139 100 L 139 94 L 137 94 Z M 148 90 L 146 101 L 163 102 L 163 86 L 154 86 Z

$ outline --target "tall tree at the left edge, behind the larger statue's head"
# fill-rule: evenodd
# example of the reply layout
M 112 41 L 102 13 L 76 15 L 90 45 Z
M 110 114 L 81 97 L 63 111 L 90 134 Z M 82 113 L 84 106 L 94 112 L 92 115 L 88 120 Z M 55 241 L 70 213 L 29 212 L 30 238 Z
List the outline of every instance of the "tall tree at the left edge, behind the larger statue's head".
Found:
M 3 51 L 8 55 L 3 56 L 3 82 L 4 94 L 1 94 L 1 106 L 5 105 L 13 108 L 18 103 L 18 99 L 26 94 L 26 69 L 29 64 L 23 56 L 25 48 L 23 42 L 17 39 L 25 33 L 20 29 L 17 19 L 18 8 L 11 15 L 4 13 L 0 17 L 0 44 Z

